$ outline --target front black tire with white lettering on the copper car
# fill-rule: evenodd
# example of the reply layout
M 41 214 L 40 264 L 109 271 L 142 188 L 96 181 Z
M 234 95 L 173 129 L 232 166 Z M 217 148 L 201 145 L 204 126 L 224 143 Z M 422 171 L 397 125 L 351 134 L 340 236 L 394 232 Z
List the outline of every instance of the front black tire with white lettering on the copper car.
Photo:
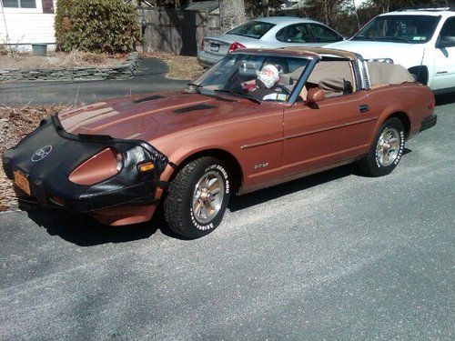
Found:
M 200 219 L 204 219 L 204 216 L 200 216 L 202 215 L 202 208 L 200 208 L 199 215 L 193 212 L 193 196 L 198 193 L 195 189 L 198 183 L 207 175 L 213 176 L 211 179 L 216 179 L 217 184 L 219 183 L 220 190 L 215 196 L 217 196 L 216 200 L 221 201 L 217 201 L 217 211 L 213 210 L 213 216 L 209 221 L 205 222 L 200 221 Z M 204 188 L 207 188 L 207 186 Z M 208 203 L 207 200 L 210 199 L 213 201 L 215 196 L 207 198 L 206 195 L 205 203 Z M 206 236 L 215 230 L 221 222 L 226 211 L 229 196 L 229 175 L 227 173 L 227 167 L 220 160 L 212 156 L 198 158 L 185 165 L 170 183 L 164 202 L 167 224 L 172 231 L 181 236 L 187 236 L 189 238 Z M 210 204 L 202 204 L 202 199 L 199 199 L 199 203 L 204 206 L 205 218 L 207 218 L 207 207 L 211 209 Z

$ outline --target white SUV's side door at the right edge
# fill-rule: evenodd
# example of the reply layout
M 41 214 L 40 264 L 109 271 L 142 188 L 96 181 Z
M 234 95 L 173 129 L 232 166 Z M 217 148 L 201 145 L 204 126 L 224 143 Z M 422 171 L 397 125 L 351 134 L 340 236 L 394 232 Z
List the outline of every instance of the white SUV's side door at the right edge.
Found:
M 440 30 L 434 56 L 433 90 L 455 87 L 455 16 L 446 20 Z

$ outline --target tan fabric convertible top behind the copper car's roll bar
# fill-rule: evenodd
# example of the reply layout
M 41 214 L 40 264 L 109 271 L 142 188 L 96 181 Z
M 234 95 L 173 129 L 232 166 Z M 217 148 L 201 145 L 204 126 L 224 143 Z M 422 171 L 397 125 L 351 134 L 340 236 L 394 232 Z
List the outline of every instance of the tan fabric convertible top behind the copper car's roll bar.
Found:
M 402 65 L 388 64 L 380 62 L 368 62 L 369 84 L 379 85 L 399 85 L 405 82 L 414 82 L 410 72 Z

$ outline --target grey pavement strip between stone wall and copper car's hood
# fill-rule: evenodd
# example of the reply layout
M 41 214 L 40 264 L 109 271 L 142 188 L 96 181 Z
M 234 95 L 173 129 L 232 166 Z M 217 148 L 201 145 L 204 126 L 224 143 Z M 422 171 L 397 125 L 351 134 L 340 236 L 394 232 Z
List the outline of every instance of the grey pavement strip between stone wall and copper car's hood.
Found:
M 79 105 L 108 98 L 183 88 L 188 81 L 167 79 L 167 65 L 141 59 L 137 74 L 126 80 L 81 82 L 15 82 L 0 84 L 0 105 Z

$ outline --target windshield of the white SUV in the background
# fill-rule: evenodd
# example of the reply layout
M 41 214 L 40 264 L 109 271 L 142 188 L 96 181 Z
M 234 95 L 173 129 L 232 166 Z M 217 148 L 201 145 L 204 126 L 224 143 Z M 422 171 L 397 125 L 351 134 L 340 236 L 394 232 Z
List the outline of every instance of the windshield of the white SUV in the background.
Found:
M 431 39 L 439 16 L 382 15 L 363 27 L 352 40 L 423 44 Z

